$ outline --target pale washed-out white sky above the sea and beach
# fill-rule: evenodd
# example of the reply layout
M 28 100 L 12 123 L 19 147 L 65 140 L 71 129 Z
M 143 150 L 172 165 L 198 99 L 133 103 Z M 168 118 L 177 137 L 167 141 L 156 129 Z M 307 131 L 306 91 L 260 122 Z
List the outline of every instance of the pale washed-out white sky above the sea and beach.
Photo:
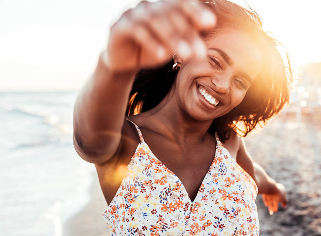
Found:
M 239 0 L 242 2 L 242 0 Z M 0 91 L 77 91 L 138 0 L 0 0 Z M 294 65 L 321 62 L 321 0 L 247 0 Z

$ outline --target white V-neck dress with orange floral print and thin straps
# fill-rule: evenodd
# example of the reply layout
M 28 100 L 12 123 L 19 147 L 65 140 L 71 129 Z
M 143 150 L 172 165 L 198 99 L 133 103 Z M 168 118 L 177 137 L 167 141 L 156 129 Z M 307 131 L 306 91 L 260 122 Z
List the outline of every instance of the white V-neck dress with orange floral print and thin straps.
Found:
M 192 202 L 180 179 L 157 159 L 134 125 L 140 143 L 103 213 L 112 236 L 259 235 L 257 186 L 217 134 L 215 157 Z

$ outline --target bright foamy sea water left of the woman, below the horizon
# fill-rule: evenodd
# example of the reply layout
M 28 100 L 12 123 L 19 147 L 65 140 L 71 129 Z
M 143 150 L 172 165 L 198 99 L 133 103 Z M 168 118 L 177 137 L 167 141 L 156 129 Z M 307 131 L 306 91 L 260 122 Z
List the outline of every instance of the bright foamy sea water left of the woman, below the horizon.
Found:
M 0 235 L 61 236 L 94 166 L 72 143 L 77 92 L 0 93 Z

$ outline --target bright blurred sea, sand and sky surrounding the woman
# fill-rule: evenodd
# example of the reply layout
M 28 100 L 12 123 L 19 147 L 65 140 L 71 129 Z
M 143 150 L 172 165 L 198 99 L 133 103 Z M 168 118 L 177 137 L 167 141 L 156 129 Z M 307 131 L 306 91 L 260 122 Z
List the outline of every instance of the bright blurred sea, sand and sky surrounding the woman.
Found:
M 109 235 L 94 165 L 74 151 L 72 113 L 109 27 L 138 2 L 0 0 L 1 235 Z M 260 235 L 321 235 L 321 2 L 247 3 L 300 78 L 282 115 L 246 138 L 289 200 L 270 216 L 257 198 Z

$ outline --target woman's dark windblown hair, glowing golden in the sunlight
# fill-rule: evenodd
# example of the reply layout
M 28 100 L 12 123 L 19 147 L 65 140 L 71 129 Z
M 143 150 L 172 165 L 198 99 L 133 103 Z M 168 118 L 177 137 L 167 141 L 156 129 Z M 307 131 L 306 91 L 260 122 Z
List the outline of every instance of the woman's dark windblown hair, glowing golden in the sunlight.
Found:
M 199 0 L 217 16 L 214 31 L 201 32 L 203 38 L 214 36 L 224 29 L 249 33 L 264 55 L 264 64 L 241 103 L 229 113 L 215 118 L 208 132 L 218 133 L 224 142 L 231 131 L 245 137 L 253 129 L 263 127 L 289 103 L 293 72 L 287 51 L 281 43 L 263 31 L 262 21 L 249 6 L 243 7 L 227 0 Z M 130 93 L 127 115 L 152 109 L 172 87 L 176 72 L 174 61 L 155 69 L 143 69 L 136 74 Z

